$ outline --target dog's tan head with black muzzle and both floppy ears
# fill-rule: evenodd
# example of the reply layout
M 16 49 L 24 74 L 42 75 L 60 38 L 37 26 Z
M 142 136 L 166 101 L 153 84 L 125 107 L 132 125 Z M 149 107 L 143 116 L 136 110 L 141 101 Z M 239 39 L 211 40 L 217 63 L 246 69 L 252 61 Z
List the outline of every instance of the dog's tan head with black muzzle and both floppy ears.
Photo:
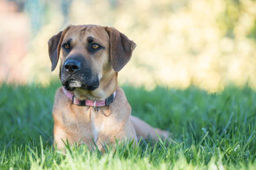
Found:
M 70 25 L 52 36 L 48 46 L 52 71 L 60 58 L 62 85 L 92 91 L 126 65 L 136 44 L 114 28 Z

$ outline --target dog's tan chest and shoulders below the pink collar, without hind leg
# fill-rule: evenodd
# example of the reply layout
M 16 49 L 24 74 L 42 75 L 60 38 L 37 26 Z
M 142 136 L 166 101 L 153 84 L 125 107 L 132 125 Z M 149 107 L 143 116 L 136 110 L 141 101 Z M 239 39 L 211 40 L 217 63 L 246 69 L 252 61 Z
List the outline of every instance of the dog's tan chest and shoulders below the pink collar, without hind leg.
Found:
M 53 107 L 55 143 L 61 147 L 62 139 L 68 139 L 71 143 L 81 142 L 90 146 L 93 139 L 101 148 L 103 142 L 114 143 L 115 138 L 134 138 L 137 141 L 130 114 L 131 107 L 120 87 L 116 89 L 114 102 L 99 111 L 90 106 L 72 104 L 60 88 Z

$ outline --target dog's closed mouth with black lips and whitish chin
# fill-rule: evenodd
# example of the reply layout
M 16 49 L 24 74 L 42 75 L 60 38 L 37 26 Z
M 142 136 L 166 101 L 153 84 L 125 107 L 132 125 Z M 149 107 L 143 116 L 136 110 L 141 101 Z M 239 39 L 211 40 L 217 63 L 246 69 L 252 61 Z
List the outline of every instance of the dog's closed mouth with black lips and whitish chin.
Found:
M 92 91 L 98 88 L 98 83 L 95 83 L 93 85 L 87 85 L 85 83 L 82 83 L 80 80 L 76 80 L 76 79 L 69 79 L 63 82 L 62 85 L 65 87 L 66 90 L 69 90 L 69 91 L 74 91 L 76 88 Z

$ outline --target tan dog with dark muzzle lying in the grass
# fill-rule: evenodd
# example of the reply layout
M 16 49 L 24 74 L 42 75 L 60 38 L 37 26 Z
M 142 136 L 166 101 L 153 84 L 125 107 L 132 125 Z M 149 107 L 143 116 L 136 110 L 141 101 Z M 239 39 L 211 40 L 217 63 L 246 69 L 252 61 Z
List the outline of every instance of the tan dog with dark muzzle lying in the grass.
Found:
M 57 90 L 53 106 L 54 145 L 93 144 L 98 148 L 115 139 L 135 139 L 137 135 L 157 140 L 154 129 L 137 117 L 123 90 L 117 85 L 117 72 L 130 60 L 136 44 L 114 28 L 98 25 L 70 25 L 48 41 L 52 71 L 60 58 L 59 77 L 63 87 L 77 100 L 104 100 L 114 94 L 108 106 L 95 109 L 78 106 L 62 87 Z M 64 92 L 63 92 L 64 91 Z M 74 100 L 74 98 L 73 98 Z M 169 132 L 156 129 L 167 138 Z M 62 141 L 63 140 L 63 141 Z

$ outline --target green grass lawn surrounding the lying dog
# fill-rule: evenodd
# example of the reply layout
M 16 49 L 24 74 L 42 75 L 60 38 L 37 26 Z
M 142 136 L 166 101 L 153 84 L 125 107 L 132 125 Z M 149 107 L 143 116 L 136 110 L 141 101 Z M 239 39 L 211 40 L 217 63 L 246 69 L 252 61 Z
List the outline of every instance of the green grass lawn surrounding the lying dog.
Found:
M 105 153 L 86 145 L 52 148 L 52 104 L 58 81 L 0 87 L 0 169 L 255 169 L 256 92 L 226 87 L 208 94 L 124 86 L 132 114 L 172 132 L 171 142 L 141 140 Z

